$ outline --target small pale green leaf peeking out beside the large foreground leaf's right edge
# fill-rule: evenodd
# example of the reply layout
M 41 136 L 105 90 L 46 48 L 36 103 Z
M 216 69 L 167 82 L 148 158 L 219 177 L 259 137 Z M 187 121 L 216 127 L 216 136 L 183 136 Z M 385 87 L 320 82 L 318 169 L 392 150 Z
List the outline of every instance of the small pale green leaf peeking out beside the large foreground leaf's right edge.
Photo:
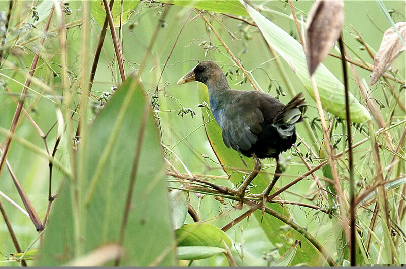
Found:
M 174 229 L 179 229 L 185 222 L 189 205 L 189 196 L 186 191 L 173 190 L 169 193 L 171 205 L 171 219 Z

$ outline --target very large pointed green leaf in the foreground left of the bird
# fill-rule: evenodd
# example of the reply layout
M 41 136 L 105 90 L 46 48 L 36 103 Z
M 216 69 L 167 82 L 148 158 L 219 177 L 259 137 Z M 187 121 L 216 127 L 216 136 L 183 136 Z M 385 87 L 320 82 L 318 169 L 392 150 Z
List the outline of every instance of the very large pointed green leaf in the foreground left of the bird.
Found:
M 87 176 L 63 183 L 36 265 L 68 264 L 106 244 L 120 245 L 136 156 L 120 265 L 174 265 L 175 239 L 162 148 L 149 100 L 134 77 L 112 96 L 87 134 L 77 154 L 77 175 Z M 89 153 L 88 160 L 81 157 L 83 153 Z

